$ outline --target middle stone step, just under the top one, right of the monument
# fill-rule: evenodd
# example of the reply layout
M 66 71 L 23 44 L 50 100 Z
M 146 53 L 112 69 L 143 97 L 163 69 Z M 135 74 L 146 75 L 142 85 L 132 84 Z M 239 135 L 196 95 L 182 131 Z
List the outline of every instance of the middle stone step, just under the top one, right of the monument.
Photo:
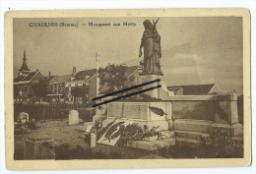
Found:
M 198 141 L 206 140 L 208 137 L 210 137 L 207 133 L 199 133 L 199 132 L 192 132 L 192 131 L 180 131 L 175 130 L 175 136 L 180 138 L 188 138 L 188 139 L 195 139 Z

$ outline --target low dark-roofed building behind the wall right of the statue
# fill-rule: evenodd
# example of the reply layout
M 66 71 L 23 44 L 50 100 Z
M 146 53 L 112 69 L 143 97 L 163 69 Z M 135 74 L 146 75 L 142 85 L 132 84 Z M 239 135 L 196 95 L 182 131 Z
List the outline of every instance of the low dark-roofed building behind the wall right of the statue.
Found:
M 204 95 L 221 92 L 220 87 L 216 84 L 172 86 L 167 88 L 173 91 L 175 95 Z

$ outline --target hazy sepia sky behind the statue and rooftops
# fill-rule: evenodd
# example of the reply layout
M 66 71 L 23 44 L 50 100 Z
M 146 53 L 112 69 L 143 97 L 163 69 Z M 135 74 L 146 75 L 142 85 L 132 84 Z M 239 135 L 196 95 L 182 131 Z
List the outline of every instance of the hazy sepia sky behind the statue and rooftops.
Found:
M 138 65 L 143 21 L 155 18 L 14 19 L 14 74 L 27 64 L 44 76 L 66 75 L 99 65 Z M 123 26 L 123 23 L 133 24 Z M 30 27 L 56 23 L 58 27 Z M 59 24 L 78 24 L 60 27 Z M 89 23 L 109 24 L 90 27 Z M 113 24 L 120 24 L 119 27 Z M 217 84 L 224 91 L 242 91 L 242 19 L 238 17 L 165 17 L 161 36 L 163 75 L 167 86 Z

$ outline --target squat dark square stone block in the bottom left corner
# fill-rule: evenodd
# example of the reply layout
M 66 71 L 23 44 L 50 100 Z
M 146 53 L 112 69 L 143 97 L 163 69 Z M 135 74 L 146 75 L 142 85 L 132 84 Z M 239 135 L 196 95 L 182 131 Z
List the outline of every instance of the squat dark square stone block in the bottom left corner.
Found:
M 24 143 L 24 159 L 55 159 L 54 141 L 48 137 L 30 137 Z

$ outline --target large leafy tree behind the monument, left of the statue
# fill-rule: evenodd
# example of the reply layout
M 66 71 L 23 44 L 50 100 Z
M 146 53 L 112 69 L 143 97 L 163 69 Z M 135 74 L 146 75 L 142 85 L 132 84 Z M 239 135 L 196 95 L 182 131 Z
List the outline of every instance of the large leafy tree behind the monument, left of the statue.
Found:
M 125 82 L 127 81 L 125 72 L 126 67 L 123 65 L 109 64 L 105 68 L 99 68 L 99 91 L 110 93 L 125 88 Z

